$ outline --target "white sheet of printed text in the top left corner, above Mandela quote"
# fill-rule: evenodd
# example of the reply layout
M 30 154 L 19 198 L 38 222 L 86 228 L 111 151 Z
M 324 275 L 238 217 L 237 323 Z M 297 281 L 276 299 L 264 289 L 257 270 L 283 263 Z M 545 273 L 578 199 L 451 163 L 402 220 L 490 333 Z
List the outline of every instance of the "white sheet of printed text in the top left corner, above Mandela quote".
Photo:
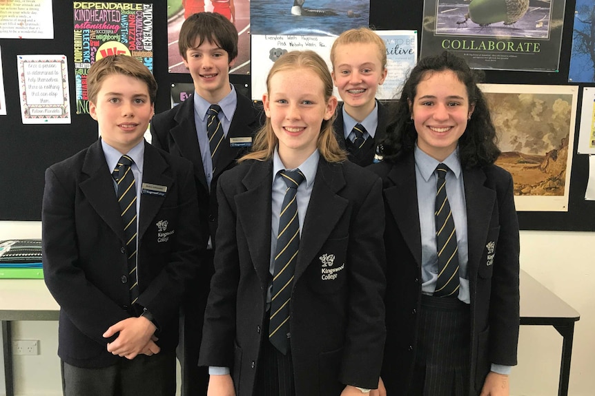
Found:
M 52 0 L 0 0 L 0 39 L 53 39 Z

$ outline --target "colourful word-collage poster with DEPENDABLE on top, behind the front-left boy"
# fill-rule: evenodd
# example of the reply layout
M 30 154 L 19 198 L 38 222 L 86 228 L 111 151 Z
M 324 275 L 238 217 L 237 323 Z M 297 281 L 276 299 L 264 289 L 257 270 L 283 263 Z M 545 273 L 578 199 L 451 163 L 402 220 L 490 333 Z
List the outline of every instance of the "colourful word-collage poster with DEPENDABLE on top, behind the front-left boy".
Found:
M 95 61 L 125 54 L 153 72 L 153 4 L 75 1 L 73 7 L 77 114 L 85 114 L 89 112 L 87 72 Z

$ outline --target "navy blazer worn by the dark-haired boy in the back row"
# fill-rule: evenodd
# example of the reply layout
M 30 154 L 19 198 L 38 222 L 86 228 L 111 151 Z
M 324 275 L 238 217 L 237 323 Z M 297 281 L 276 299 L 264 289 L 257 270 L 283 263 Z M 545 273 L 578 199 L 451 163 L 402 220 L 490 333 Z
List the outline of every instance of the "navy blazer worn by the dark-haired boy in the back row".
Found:
M 235 114 L 233 114 L 227 136 L 218 150 L 219 157 L 217 161 L 219 161 L 219 164 L 213 173 L 211 189 L 208 189 L 206 183 L 196 134 L 194 95 L 191 95 L 186 101 L 173 107 L 173 109 L 156 114 L 150 123 L 152 145 L 176 156 L 187 158 L 194 164 L 201 225 L 206 235 L 211 236 L 213 248 L 215 248 L 215 230 L 217 230 L 217 194 L 215 192 L 217 179 L 224 171 L 233 168 L 237 158 L 246 154 L 250 149 L 250 147 L 231 147 L 229 139 L 253 137 L 262 125 L 262 111 L 257 109 L 246 96 L 239 92 L 236 92 L 236 94 L 237 106 Z

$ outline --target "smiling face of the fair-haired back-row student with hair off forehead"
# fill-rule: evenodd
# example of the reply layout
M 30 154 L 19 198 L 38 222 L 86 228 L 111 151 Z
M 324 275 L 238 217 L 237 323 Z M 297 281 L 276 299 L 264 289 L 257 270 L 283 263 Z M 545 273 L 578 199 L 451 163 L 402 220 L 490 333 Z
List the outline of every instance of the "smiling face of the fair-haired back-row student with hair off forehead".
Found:
M 375 106 L 378 85 L 382 85 L 387 76 L 378 46 L 375 43 L 337 45 L 332 75 L 347 114 L 356 121 L 363 121 Z

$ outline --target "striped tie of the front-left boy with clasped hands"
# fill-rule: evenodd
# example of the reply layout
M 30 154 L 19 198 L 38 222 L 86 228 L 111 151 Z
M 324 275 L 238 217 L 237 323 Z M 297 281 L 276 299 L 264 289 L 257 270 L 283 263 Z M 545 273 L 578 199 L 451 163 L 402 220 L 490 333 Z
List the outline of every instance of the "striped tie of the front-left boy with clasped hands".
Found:
M 121 156 L 112 175 L 118 185 L 117 198 L 126 236 L 130 301 L 135 304 L 139 296 L 139 287 L 137 276 L 137 187 L 135 176 L 130 168 L 133 163 L 133 159 L 129 156 Z

